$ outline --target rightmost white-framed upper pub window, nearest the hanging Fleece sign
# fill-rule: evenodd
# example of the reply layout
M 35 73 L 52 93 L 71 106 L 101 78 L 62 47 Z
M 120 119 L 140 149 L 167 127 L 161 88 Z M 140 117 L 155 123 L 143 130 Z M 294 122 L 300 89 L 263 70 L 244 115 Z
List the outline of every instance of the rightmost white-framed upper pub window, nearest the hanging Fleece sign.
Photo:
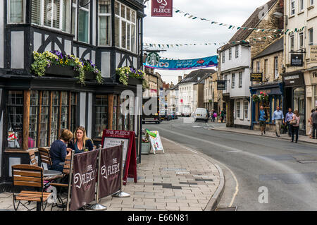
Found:
M 135 53 L 136 11 L 115 1 L 115 46 Z

